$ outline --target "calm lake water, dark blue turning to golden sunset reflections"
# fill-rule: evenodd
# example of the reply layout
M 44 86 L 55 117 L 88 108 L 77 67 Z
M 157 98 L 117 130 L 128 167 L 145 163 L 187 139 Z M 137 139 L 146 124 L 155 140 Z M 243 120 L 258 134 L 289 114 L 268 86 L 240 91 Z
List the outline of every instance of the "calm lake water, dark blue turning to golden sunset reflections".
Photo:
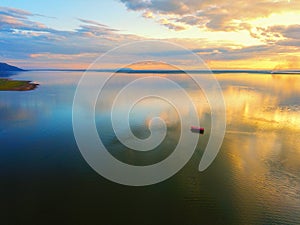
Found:
M 227 131 L 216 160 L 200 173 L 209 107 L 192 82 L 164 75 L 189 92 L 207 132 L 175 176 L 129 187 L 99 176 L 77 148 L 71 119 L 81 75 L 24 72 L 12 78 L 36 81 L 38 89 L 0 92 L 0 224 L 300 224 L 300 76 L 217 75 L 227 105 Z M 120 144 L 109 122 L 109 106 L 136 76 L 120 74 L 108 84 L 96 121 L 112 155 L 147 165 L 168 157 L 181 127 L 170 105 L 146 99 L 131 112 L 132 131 L 147 137 L 149 118 L 159 115 L 168 126 L 165 140 L 144 155 Z M 181 100 L 174 89 L 149 85 Z

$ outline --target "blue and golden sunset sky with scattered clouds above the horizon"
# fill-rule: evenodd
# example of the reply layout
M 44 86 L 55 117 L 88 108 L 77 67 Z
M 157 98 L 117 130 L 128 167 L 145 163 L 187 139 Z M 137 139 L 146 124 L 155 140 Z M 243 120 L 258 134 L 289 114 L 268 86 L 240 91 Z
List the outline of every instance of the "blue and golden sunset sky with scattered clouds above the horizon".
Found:
M 211 69 L 300 69 L 299 21 L 300 0 L 1 0 L 0 62 L 87 68 L 115 47 L 161 40 Z M 180 52 L 151 49 L 187 63 Z M 103 66 L 122 57 L 131 56 Z

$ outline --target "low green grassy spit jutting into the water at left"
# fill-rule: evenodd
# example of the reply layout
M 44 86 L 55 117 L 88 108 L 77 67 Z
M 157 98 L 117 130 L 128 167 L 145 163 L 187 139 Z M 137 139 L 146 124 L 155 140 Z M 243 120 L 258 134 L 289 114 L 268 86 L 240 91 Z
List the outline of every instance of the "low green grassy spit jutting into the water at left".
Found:
M 0 91 L 30 91 L 37 86 L 38 84 L 31 83 L 31 81 L 0 78 Z

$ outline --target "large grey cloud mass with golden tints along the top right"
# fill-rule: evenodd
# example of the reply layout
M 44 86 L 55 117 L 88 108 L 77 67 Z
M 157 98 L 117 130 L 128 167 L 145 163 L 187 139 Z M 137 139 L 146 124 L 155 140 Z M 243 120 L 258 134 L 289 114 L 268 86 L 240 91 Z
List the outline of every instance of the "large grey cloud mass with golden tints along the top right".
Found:
M 129 10 L 146 11 L 157 17 L 184 25 L 211 30 L 240 30 L 249 20 L 287 11 L 299 11 L 300 2 L 292 0 L 120 0 Z M 249 27 L 248 27 L 249 28 Z

